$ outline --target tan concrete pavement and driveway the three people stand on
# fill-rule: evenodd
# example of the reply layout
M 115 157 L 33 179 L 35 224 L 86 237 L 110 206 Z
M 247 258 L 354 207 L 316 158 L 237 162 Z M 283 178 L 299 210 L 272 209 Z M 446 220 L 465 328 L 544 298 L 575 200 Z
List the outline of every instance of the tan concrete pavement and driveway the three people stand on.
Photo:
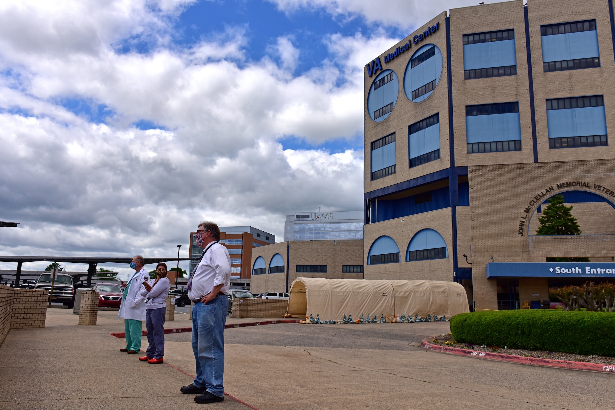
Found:
M 189 333 L 166 339 L 165 362 L 181 372 L 119 353 L 122 341 L 108 334 L 123 331 L 121 321 L 108 316 L 114 312 L 99 312 L 98 326 L 77 326 L 77 315 L 63 313 L 48 310 L 46 328 L 10 331 L 0 347 L 1 408 L 199 407 L 177 390 L 191 381 L 183 372 L 194 374 Z M 179 328 L 189 321 L 167 324 Z M 446 355 L 413 345 L 445 331 L 448 323 L 226 329 L 224 385 L 260 410 L 615 408 L 610 374 Z M 229 398 L 200 408 L 214 406 L 247 408 Z

